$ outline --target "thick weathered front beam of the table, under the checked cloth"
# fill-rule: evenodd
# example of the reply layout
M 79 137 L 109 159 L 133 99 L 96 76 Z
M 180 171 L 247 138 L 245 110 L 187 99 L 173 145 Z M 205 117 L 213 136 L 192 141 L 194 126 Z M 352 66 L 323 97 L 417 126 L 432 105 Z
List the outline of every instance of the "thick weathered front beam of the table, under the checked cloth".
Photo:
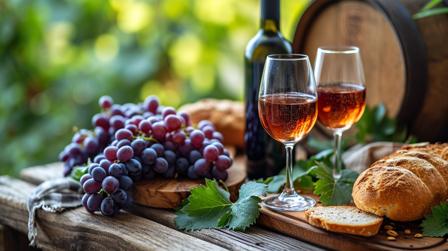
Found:
M 9 176 L 0 176 L 0 223 L 27 233 L 26 199 L 33 187 Z M 19 190 L 20 189 L 20 190 Z M 61 213 L 38 210 L 36 243 L 48 250 L 218 250 L 222 247 L 120 212 L 107 217 L 90 214 L 84 208 Z

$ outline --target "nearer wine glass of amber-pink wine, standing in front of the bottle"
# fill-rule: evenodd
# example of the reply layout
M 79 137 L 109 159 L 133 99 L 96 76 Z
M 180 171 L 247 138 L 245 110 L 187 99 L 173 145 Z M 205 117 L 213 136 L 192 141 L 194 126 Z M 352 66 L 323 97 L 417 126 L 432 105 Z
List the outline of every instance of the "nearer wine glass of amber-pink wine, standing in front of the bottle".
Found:
M 308 56 L 267 56 L 258 95 L 258 114 L 264 129 L 286 147 L 286 185 L 278 197 L 263 199 L 276 210 L 303 211 L 314 199 L 297 194 L 293 186 L 294 145 L 310 132 L 317 119 L 317 92 Z

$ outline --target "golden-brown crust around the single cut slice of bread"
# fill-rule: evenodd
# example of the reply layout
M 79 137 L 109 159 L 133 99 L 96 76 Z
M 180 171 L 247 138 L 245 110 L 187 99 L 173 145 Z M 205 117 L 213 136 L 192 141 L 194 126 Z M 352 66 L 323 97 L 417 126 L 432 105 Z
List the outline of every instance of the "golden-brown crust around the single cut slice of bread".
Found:
M 332 223 L 331 221 L 328 221 L 326 216 L 321 216 L 319 213 L 316 213 L 316 211 L 320 211 L 319 209 L 332 209 L 332 208 L 344 208 L 346 210 L 350 211 L 358 211 L 360 213 L 374 216 L 376 219 L 375 221 L 371 221 L 366 224 L 340 224 L 340 223 Z M 332 232 L 338 232 L 338 233 L 346 233 L 346 234 L 356 234 L 356 235 L 362 235 L 362 236 L 372 236 L 378 233 L 381 223 L 383 222 L 383 218 L 380 216 L 377 216 L 375 214 L 372 214 L 370 212 L 364 212 L 358 208 L 349 207 L 349 206 L 336 206 L 336 207 L 314 207 L 306 209 L 305 211 L 305 220 L 310 223 L 311 225 L 323 229 L 327 229 Z

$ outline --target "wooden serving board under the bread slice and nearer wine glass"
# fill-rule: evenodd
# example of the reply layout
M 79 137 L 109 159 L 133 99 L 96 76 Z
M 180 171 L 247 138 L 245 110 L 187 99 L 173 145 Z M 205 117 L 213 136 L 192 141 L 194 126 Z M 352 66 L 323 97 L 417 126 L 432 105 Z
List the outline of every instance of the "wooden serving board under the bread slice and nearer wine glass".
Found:
M 316 201 L 319 200 L 317 195 L 306 194 L 306 196 Z M 422 227 L 419 226 L 422 221 L 392 221 L 384 217 L 378 234 L 364 237 L 334 233 L 314 227 L 305 221 L 305 212 L 273 211 L 264 207 L 262 203 L 260 205 L 262 208 L 260 209 L 257 224 L 324 248 L 340 251 L 448 250 L 448 242 L 445 238 L 414 237 L 415 234 L 422 233 Z M 353 201 L 350 206 L 356 207 Z M 318 202 L 316 207 L 322 207 L 322 204 Z M 384 229 L 384 225 L 390 225 L 391 223 L 396 226 L 396 229 L 393 229 L 398 234 L 395 237 L 396 241 L 387 240 L 388 234 L 386 234 L 387 230 Z M 411 234 L 405 234 L 406 229 L 409 229 Z

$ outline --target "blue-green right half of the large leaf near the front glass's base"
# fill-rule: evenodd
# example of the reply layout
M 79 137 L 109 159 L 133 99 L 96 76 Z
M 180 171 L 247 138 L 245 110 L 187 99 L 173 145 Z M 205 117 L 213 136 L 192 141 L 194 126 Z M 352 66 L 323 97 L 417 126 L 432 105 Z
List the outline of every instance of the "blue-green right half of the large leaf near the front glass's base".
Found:
M 243 184 L 240 189 L 240 198 L 232 205 L 230 210 L 218 222 L 218 227 L 228 227 L 235 231 L 244 232 L 246 227 L 255 223 L 260 214 L 261 198 L 266 196 L 267 185 L 257 182 Z

